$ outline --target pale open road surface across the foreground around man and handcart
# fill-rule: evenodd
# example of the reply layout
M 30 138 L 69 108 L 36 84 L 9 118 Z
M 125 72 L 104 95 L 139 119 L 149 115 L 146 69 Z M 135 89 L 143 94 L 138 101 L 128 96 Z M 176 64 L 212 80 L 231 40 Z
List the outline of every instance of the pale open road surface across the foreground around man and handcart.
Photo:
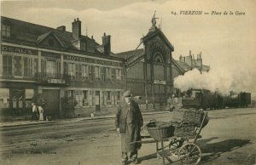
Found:
M 201 164 L 253 164 L 256 154 L 256 109 L 209 111 L 201 132 Z M 144 116 L 169 121 L 172 113 Z M 0 164 L 120 164 L 120 136 L 113 119 L 73 120 L 26 127 L 0 128 Z M 147 131 L 144 129 L 143 134 Z M 160 164 L 154 144 L 139 151 L 141 164 Z M 172 159 L 172 157 L 171 157 Z M 172 159 L 172 164 L 181 164 Z

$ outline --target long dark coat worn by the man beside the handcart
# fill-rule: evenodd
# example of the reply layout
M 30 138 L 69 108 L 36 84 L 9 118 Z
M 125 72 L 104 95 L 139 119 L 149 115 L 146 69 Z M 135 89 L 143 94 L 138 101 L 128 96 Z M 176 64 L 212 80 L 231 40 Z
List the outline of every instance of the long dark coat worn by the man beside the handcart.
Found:
M 140 143 L 130 145 L 131 142 L 141 140 L 140 131 L 143 127 L 142 112 L 135 101 L 131 100 L 129 105 L 127 103 L 119 105 L 115 126 L 120 129 L 123 152 L 134 152 L 140 149 Z

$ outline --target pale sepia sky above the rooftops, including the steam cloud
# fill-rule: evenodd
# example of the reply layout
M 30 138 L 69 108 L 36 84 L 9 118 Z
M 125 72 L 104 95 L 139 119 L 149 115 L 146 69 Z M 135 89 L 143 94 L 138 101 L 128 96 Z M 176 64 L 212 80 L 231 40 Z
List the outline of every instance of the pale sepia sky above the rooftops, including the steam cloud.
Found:
M 43 26 L 66 26 L 71 31 L 73 20 L 79 18 L 82 34 L 86 35 L 87 28 L 87 35 L 93 35 L 97 43 L 102 43 L 104 32 L 111 35 L 113 53 L 137 48 L 140 38 L 148 33 L 154 11 L 157 25 L 174 46 L 174 59 L 188 55 L 189 50 L 195 57 L 202 52 L 203 63 L 211 66 L 207 76 L 189 71 L 178 77 L 177 87 L 203 83 L 256 96 L 255 0 L 1 1 L 1 15 Z

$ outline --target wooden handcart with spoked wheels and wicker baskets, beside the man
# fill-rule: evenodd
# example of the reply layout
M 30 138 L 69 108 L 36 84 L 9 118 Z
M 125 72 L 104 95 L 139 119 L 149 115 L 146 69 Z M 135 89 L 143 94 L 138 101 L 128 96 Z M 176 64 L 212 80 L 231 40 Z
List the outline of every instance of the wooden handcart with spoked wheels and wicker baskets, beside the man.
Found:
M 160 128 L 162 130 L 148 129 L 148 134 L 150 134 L 150 136 L 143 136 L 143 140 L 132 142 L 131 144 L 155 143 L 156 155 L 158 158 L 162 159 L 164 165 L 166 164 L 166 160 L 172 162 L 168 156 L 177 157 L 183 164 L 198 164 L 201 161 L 201 148 L 196 145 L 195 142 L 197 139 L 201 138 L 201 129 L 206 125 L 205 120 L 208 120 L 207 112 L 202 112 L 201 117 L 201 123 L 197 125 L 197 127 L 180 126 L 185 129 L 182 129 L 179 132 L 177 131 L 177 134 L 175 134 L 175 130 L 173 130 L 174 128 L 170 124 L 169 127 L 166 125 L 165 128 Z M 154 122 L 155 121 L 150 121 L 149 123 Z M 188 132 L 186 132 L 186 128 L 189 128 L 190 130 L 187 129 Z M 191 130 L 191 128 L 193 128 L 193 130 Z M 168 142 L 168 145 L 165 145 L 166 142 Z M 166 148 L 168 148 L 168 151 L 165 151 Z

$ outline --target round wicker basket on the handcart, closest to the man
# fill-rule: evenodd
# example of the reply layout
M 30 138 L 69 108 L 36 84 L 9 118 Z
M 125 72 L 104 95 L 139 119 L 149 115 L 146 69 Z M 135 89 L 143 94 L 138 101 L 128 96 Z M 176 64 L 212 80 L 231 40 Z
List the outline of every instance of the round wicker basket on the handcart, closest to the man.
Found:
M 147 124 L 148 134 L 154 139 L 166 139 L 173 136 L 174 127 L 170 122 L 150 121 Z

